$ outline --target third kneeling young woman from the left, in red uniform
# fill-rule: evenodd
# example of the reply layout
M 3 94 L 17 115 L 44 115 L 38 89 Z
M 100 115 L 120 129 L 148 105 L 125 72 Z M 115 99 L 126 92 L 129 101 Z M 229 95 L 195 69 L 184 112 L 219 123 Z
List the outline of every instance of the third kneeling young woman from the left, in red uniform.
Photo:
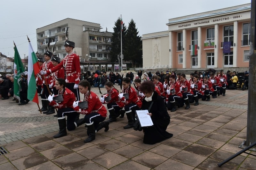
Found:
M 116 122 L 116 118 L 120 116 L 120 118 L 124 117 L 125 111 L 122 110 L 124 107 L 124 103 L 119 102 L 118 90 L 114 87 L 111 81 L 107 81 L 105 83 L 105 88 L 107 90 L 108 95 L 111 97 L 110 101 L 105 101 L 104 96 L 100 97 L 100 100 L 103 104 L 107 104 L 108 112 L 109 112 L 109 120 L 108 122 Z

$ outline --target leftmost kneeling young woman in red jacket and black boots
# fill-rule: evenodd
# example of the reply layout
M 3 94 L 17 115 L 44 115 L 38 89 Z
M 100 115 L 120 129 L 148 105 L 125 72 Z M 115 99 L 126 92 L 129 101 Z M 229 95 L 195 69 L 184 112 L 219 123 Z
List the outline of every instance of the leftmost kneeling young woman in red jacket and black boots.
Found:
M 80 124 L 76 122 L 76 116 L 79 115 L 79 113 L 77 113 L 73 107 L 73 102 L 76 101 L 76 97 L 75 94 L 66 87 L 64 78 L 58 78 L 56 80 L 55 88 L 59 91 L 58 94 L 62 95 L 63 101 L 57 103 L 55 100 L 53 100 L 54 94 L 49 95 L 48 100 L 52 107 L 58 108 L 57 115 L 60 131 L 58 134 L 53 136 L 58 138 L 67 135 L 66 127 L 68 130 L 74 130 L 77 126 L 82 124 L 83 119 L 80 120 Z

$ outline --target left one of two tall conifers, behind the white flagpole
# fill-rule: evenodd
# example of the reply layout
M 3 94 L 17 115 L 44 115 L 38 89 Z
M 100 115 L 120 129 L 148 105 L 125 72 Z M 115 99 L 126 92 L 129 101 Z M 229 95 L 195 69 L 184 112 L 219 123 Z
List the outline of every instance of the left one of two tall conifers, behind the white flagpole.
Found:
M 114 33 L 112 35 L 112 43 L 111 43 L 111 62 L 115 63 L 118 61 L 117 55 L 121 53 L 121 18 L 119 17 L 116 22 L 115 26 L 113 27 Z M 125 42 L 125 34 L 126 34 L 126 26 L 123 23 L 123 32 L 122 32 L 122 46 L 123 51 L 125 49 L 124 42 Z M 124 56 L 125 58 L 125 56 Z

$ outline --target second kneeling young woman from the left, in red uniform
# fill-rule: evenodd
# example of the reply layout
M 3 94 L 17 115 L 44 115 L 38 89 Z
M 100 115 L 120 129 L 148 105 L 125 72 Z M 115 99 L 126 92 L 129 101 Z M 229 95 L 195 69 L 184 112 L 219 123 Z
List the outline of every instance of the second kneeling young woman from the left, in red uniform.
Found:
M 107 109 L 102 105 L 99 97 L 94 92 L 91 92 L 91 85 L 87 80 L 79 82 L 79 91 L 84 94 L 84 101 L 87 101 L 88 108 L 80 109 L 76 101 L 73 103 L 73 107 L 76 112 L 85 115 L 84 122 L 87 125 L 88 138 L 84 140 L 84 143 L 91 142 L 95 139 L 95 133 L 103 127 L 105 131 L 108 131 L 108 122 L 103 122 L 107 117 Z M 101 123 L 100 123 L 101 122 Z M 95 131 L 96 129 L 96 131 Z

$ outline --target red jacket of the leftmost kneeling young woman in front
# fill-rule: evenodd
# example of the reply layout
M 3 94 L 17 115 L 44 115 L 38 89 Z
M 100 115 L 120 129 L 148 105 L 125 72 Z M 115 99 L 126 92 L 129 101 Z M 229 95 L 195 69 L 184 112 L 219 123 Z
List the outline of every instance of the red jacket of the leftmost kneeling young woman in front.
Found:
M 50 103 L 51 106 L 56 107 L 56 108 L 66 108 L 66 107 L 71 107 L 73 108 L 73 103 L 76 101 L 76 96 L 71 90 L 68 88 L 63 89 L 62 92 L 59 92 L 59 94 L 62 94 L 63 101 L 60 103 L 56 103 L 54 100 Z

